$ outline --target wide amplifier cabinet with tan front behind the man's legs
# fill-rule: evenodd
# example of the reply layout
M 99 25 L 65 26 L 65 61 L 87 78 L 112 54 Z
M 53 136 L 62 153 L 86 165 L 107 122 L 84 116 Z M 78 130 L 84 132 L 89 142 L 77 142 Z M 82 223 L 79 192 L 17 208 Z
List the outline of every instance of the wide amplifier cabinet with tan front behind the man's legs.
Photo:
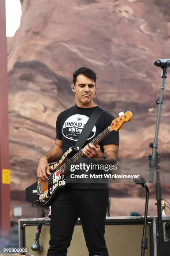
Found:
M 20 219 L 19 220 L 19 246 L 26 247 L 29 254 L 33 256 L 46 256 L 49 248 L 50 226 L 42 225 L 40 233 L 40 243 L 42 251 L 32 251 L 31 245 L 35 240 L 35 233 L 39 219 Z M 163 223 L 170 220 L 170 216 L 163 216 Z M 47 219 L 50 223 L 50 219 Z M 141 239 L 143 236 L 144 218 L 139 217 L 106 217 L 105 221 L 105 240 L 109 256 L 141 256 Z M 165 226 L 165 225 L 164 225 Z M 157 217 L 150 216 L 147 219 L 147 238 L 148 249 L 145 256 L 157 255 L 156 238 Z M 164 232 L 165 236 L 165 232 Z M 167 237 L 163 242 L 164 256 L 170 255 L 170 241 Z M 81 222 L 77 220 L 72 236 L 71 245 L 68 248 L 67 256 L 88 256 L 85 238 L 82 232 Z

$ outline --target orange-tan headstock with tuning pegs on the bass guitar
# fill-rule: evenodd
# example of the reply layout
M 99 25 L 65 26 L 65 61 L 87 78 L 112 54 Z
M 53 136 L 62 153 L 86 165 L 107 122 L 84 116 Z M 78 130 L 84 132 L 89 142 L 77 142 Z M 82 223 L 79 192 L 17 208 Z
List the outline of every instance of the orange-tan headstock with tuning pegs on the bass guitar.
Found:
M 110 130 L 111 131 L 118 131 L 122 125 L 125 122 L 128 122 L 132 119 L 132 112 L 125 110 L 124 113 L 120 112 L 120 115 L 117 115 L 117 118 L 112 120 L 112 123 L 110 125 Z

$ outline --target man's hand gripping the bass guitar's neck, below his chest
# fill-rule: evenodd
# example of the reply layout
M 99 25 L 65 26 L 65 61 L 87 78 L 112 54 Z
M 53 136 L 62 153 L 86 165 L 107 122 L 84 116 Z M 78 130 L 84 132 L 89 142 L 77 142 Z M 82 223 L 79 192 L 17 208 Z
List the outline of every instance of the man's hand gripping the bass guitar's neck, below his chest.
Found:
M 96 144 L 94 146 L 94 145 L 92 145 L 92 143 L 89 143 L 89 145 L 86 145 L 82 149 L 82 153 L 84 154 L 84 156 L 86 156 L 88 158 L 102 158 L 103 157 L 103 154 L 100 151 L 100 146 L 98 144 Z

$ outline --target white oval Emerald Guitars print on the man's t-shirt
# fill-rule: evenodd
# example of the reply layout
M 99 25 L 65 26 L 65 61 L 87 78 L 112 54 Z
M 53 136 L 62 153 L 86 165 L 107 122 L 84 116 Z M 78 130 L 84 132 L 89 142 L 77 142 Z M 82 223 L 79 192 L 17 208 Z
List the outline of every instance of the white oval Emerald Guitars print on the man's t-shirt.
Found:
M 80 133 L 85 127 L 88 119 L 89 118 L 86 115 L 71 115 L 69 118 L 67 118 L 67 120 L 65 120 L 65 123 L 62 127 L 63 136 L 69 140 L 77 141 L 77 138 L 80 136 Z M 93 138 L 95 133 L 96 127 L 94 126 L 87 140 Z

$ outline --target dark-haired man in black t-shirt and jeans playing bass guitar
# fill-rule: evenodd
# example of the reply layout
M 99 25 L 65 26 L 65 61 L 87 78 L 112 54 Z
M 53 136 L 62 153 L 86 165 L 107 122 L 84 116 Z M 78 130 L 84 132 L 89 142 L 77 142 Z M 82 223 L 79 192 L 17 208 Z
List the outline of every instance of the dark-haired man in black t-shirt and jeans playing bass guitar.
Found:
M 93 101 L 96 74 L 82 67 L 73 74 L 71 89 L 75 93 L 76 105 L 63 111 L 57 117 L 57 139 L 50 151 L 42 156 L 37 166 L 37 177 L 47 180 L 50 175 L 49 162 L 57 161 L 77 138 L 95 108 Z M 104 111 L 97 120 L 87 143 L 105 130 L 113 116 Z M 77 124 L 77 122 L 80 122 Z M 117 159 L 119 134 L 112 132 L 98 145 L 86 145 L 82 152 L 86 158 Z M 103 153 L 104 152 L 104 153 Z M 47 256 L 66 256 L 77 218 L 80 217 L 89 256 L 108 256 L 105 244 L 105 216 L 107 211 L 107 184 L 68 184 L 62 189 L 51 208 L 50 248 Z M 75 254 L 76 255 L 76 254 Z

